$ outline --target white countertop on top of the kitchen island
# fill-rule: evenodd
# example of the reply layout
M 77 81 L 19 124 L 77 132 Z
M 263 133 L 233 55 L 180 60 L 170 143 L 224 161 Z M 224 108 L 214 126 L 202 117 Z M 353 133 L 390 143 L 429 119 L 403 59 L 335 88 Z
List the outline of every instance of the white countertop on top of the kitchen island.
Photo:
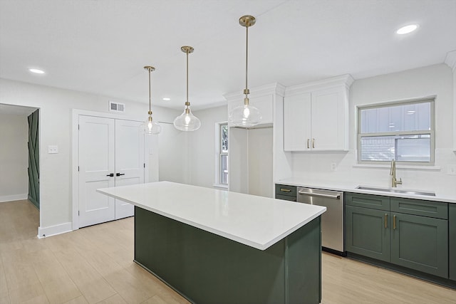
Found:
M 326 211 L 322 206 L 173 182 L 104 188 L 97 192 L 260 250 Z

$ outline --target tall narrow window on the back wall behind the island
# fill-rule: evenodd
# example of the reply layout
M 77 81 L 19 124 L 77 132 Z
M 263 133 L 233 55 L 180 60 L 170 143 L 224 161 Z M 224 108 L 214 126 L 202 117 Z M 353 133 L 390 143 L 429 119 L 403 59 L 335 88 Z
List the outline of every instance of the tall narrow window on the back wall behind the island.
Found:
M 218 187 L 228 187 L 228 123 L 217 122 L 216 127 L 216 177 Z

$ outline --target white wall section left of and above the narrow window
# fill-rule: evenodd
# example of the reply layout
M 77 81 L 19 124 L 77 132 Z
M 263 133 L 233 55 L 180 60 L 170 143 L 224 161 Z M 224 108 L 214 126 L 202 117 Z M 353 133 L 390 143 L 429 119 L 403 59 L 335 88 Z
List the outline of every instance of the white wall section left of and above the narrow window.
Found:
M 189 133 L 190 184 L 212 187 L 215 183 L 215 123 L 228 120 L 227 105 L 193 111 L 201 127 Z

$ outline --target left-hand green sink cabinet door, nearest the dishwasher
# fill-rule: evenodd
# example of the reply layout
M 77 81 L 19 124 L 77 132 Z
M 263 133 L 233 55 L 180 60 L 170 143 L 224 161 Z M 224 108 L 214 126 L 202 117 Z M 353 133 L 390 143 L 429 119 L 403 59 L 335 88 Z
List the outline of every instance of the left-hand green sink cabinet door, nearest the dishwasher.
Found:
M 346 250 L 390 261 L 389 212 L 346 206 Z

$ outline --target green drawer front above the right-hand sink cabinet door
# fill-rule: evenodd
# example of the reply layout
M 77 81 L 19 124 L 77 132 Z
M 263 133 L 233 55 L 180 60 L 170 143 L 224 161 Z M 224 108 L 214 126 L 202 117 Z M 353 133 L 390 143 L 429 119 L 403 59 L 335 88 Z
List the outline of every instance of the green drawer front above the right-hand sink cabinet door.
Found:
M 448 204 L 440 201 L 423 201 L 420 199 L 402 199 L 391 197 L 391 211 L 403 214 L 448 219 Z

